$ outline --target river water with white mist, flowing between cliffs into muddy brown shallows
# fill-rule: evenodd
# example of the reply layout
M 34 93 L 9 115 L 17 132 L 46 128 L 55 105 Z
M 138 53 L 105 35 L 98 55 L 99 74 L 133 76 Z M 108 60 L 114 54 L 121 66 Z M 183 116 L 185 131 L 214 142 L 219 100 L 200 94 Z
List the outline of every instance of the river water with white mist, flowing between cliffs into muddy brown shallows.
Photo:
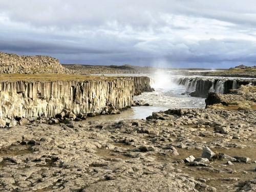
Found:
M 116 76 L 116 74 L 106 74 Z M 184 86 L 179 86 L 173 79 L 183 77 L 180 74 L 156 73 L 156 74 L 118 74 L 118 76 L 148 76 L 152 79 L 154 92 L 144 92 L 134 96 L 134 100 L 145 100 L 152 106 L 134 106 L 126 109 L 118 115 L 101 115 L 88 118 L 98 121 L 118 121 L 122 119 L 145 119 L 152 115 L 152 112 L 165 111 L 172 108 L 204 108 L 205 98 L 191 97 L 187 94 Z M 183 95 L 184 94 L 184 95 Z

